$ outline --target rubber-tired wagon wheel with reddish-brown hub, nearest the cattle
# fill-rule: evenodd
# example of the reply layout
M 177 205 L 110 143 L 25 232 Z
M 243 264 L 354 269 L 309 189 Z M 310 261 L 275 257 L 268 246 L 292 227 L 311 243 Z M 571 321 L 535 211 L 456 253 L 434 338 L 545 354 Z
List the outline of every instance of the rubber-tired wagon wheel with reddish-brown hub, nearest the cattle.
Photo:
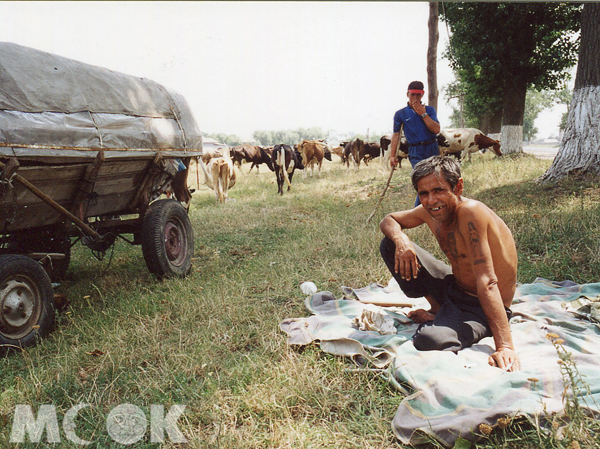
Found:
M 148 270 L 159 279 L 190 273 L 194 233 L 178 201 L 162 199 L 150 204 L 142 225 L 142 253 Z

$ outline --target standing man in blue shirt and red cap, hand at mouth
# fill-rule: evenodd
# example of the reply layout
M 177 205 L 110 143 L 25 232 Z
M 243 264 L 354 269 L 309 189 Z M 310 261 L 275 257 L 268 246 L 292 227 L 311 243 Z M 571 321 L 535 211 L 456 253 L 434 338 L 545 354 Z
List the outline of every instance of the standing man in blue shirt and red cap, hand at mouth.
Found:
M 408 85 L 408 104 L 405 108 L 396 111 L 394 115 L 394 134 L 392 134 L 390 164 L 396 167 L 396 150 L 398 148 L 398 139 L 400 139 L 400 128 L 404 124 L 404 136 L 408 142 L 408 160 L 414 167 L 423 159 L 431 156 L 438 156 L 440 149 L 438 147 L 436 136 L 440 132 L 440 122 L 437 118 L 435 109 L 431 106 L 425 106 L 421 99 L 425 94 L 423 83 L 413 81 Z M 421 204 L 419 197 L 415 201 L 415 207 Z

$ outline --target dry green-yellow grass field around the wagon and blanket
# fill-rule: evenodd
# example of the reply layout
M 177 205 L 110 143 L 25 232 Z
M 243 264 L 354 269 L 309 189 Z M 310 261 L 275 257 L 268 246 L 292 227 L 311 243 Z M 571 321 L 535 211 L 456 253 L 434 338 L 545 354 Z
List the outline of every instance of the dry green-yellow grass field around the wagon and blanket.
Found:
M 61 424 L 71 407 L 89 404 L 78 414 L 77 436 L 90 448 L 124 447 L 111 439 L 106 419 L 125 403 L 148 420 L 152 404 L 186 406 L 178 427 L 187 444 L 152 443 L 147 432 L 130 446 L 136 448 L 402 447 L 390 428 L 400 392 L 318 347 L 288 348 L 278 328 L 285 318 L 307 315 L 304 281 L 340 295 L 342 285 L 390 278 L 379 256 L 379 220 L 414 203 L 408 163 L 366 223 L 387 172 L 378 163 L 348 172 L 337 160 L 319 177 L 297 173 L 283 196 L 264 166 L 259 175 L 239 176 L 223 205 L 200 186 L 190 209 L 195 257 L 186 279 L 157 281 L 141 249 L 123 241 L 103 261 L 77 245 L 57 288 L 70 301 L 57 330 L 0 360 L 0 447 L 81 447 L 62 425 L 60 443 L 9 443 L 18 404 L 34 413 L 52 404 Z M 598 282 L 600 182 L 535 184 L 550 163 L 476 156 L 463 166 L 465 196 L 484 201 L 512 229 L 519 282 Z M 409 232 L 442 257 L 428 230 Z M 515 424 L 484 446 L 540 442 Z

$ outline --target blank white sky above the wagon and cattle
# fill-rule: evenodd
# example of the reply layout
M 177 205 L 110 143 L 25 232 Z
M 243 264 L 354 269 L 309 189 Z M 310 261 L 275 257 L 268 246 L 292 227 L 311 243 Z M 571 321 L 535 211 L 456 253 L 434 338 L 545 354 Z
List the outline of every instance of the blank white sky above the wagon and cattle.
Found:
M 410 81 L 427 86 L 428 14 L 427 2 L 0 1 L 0 41 L 159 82 L 203 132 L 373 135 L 391 131 Z M 454 78 L 439 32 L 441 91 Z M 450 113 L 440 93 L 442 127 Z M 543 113 L 538 137 L 559 119 Z

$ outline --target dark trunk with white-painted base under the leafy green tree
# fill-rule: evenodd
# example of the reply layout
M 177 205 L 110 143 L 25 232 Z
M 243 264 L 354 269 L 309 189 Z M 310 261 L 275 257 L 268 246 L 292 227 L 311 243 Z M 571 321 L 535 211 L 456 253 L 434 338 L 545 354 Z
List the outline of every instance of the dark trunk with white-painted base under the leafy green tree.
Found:
M 500 150 L 502 154 L 523 152 L 523 115 L 525 113 L 526 84 L 520 83 L 518 77 L 511 80 L 504 93 L 502 105 L 502 137 Z

